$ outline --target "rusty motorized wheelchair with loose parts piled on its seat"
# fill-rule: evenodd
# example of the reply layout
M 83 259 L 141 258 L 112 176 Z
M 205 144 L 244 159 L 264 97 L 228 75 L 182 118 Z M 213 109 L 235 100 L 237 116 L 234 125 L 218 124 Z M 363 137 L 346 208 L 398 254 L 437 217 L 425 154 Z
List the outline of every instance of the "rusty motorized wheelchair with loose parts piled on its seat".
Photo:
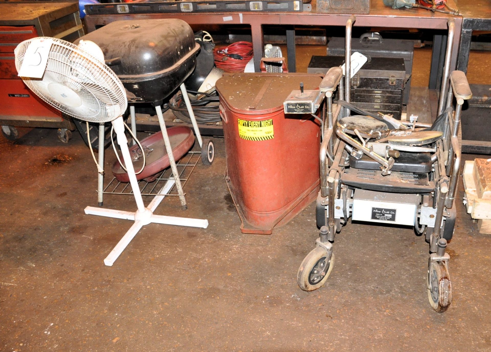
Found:
M 351 16 L 346 26 L 346 72 L 350 70 Z M 316 201 L 320 228 L 315 248 L 302 261 L 297 281 L 304 291 L 325 284 L 333 270 L 333 243 L 351 217 L 365 223 L 412 226 L 429 243 L 427 294 L 430 305 L 444 312 L 452 301 L 450 256 L 461 164 L 460 116 L 472 97 L 464 72 L 450 73 L 453 20 L 449 35 L 438 116 L 432 124 L 373 114 L 350 103 L 350 78 L 332 67 L 319 89 L 323 139 L 320 147 L 321 188 Z M 343 87 L 344 78 L 344 87 Z M 338 91 L 337 108 L 333 94 Z M 344 97 L 344 99 L 343 99 Z M 453 102 L 456 102 L 455 110 Z M 354 114 L 352 114 L 354 113 Z

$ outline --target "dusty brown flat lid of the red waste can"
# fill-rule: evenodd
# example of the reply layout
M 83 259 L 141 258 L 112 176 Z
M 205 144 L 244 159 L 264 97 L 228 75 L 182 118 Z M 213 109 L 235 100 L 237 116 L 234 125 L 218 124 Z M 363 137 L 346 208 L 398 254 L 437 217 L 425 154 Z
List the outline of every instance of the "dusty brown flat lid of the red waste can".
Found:
M 319 74 L 236 73 L 223 75 L 217 81 L 220 102 L 234 111 L 249 115 L 283 109 L 283 101 L 294 89 L 319 89 Z

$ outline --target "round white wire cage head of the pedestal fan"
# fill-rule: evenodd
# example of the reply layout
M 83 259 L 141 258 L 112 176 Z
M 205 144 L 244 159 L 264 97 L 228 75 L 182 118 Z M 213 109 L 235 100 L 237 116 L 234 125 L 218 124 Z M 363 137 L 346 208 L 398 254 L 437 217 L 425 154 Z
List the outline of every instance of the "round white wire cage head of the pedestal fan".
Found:
M 67 115 L 84 121 L 107 122 L 124 113 L 128 102 L 125 88 L 116 74 L 104 62 L 70 42 L 50 37 L 23 41 L 15 49 L 17 71 L 22 66 L 29 45 L 39 40 L 52 41 L 53 44 L 43 77 L 22 77 L 34 93 Z M 58 91 L 66 90 L 67 94 L 78 95 L 80 106 L 70 106 L 64 104 L 63 99 L 56 99 L 48 89 L 50 84 L 51 88 L 57 86 Z

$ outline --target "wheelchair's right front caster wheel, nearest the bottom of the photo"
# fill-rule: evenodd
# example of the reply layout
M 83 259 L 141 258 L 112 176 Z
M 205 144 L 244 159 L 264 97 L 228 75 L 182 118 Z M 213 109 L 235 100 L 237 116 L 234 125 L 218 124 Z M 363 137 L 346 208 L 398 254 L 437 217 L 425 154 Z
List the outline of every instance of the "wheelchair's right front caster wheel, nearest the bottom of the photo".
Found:
M 433 262 L 428 267 L 428 300 L 438 313 L 447 310 L 452 302 L 452 284 L 444 262 Z

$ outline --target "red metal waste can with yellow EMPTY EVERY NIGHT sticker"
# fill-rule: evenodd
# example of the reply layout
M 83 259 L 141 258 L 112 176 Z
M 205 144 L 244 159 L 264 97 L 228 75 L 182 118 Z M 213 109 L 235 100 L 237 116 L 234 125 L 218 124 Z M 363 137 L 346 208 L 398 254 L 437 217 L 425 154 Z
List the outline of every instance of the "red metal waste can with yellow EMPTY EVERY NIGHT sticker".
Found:
M 217 81 L 227 155 L 225 180 L 243 233 L 271 234 L 317 196 L 321 130 L 311 115 L 285 115 L 283 101 L 306 74 L 231 74 Z

